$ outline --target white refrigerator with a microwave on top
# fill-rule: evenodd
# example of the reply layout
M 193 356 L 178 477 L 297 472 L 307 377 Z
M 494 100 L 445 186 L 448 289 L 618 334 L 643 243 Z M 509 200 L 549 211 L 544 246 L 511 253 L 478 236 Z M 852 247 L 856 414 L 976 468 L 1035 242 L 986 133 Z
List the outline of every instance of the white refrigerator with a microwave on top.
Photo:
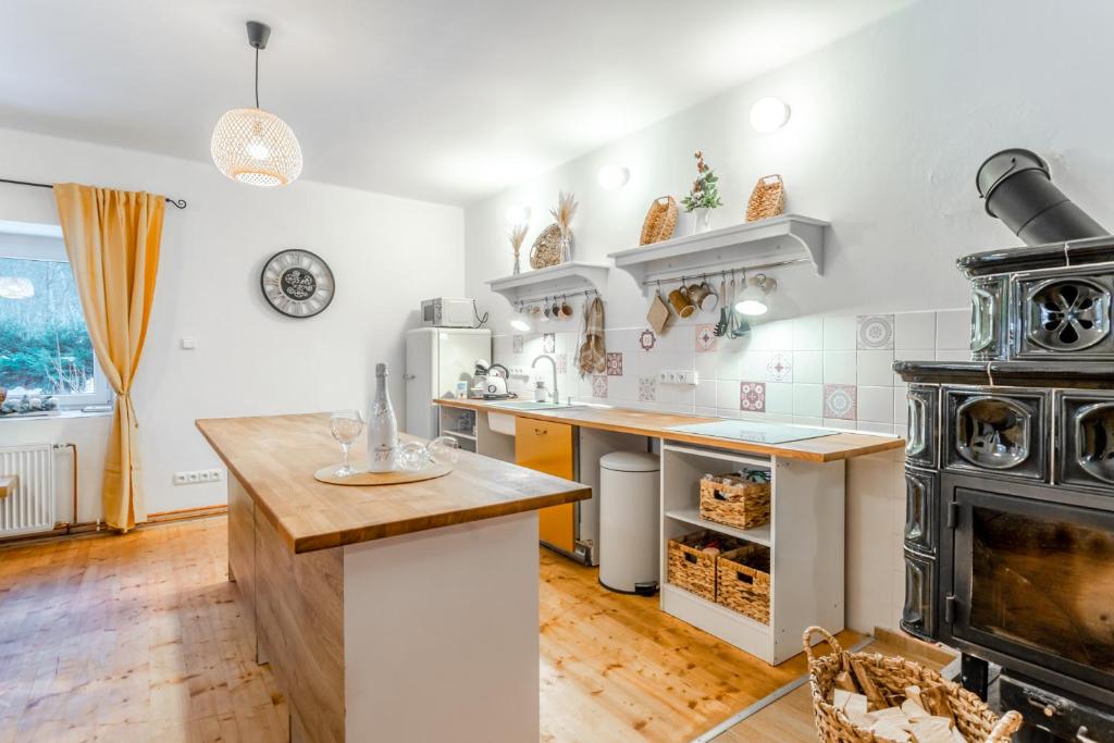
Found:
M 432 439 L 438 430 L 436 398 L 456 397 L 457 382 L 471 385 L 476 360 L 491 360 L 491 331 L 419 327 L 407 333 L 407 433 Z

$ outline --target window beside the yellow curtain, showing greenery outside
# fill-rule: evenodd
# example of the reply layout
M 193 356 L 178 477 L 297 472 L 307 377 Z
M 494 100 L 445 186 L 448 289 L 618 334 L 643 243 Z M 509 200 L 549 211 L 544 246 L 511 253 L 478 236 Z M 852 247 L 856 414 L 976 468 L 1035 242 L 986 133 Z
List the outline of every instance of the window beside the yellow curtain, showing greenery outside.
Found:
M 60 234 L 0 234 L 0 387 L 14 404 L 23 395 L 57 397 L 60 407 L 111 399 Z

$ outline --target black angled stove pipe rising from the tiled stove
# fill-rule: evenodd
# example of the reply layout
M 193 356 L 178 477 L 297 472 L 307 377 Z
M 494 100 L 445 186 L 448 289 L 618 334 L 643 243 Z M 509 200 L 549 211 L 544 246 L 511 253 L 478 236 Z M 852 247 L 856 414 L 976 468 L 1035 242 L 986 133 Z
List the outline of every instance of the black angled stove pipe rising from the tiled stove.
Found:
M 991 155 L 979 166 L 975 184 L 986 213 L 1005 222 L 1026 245 L 1110 234 L 1053 185 L 1048 164 L 1027 149 Z

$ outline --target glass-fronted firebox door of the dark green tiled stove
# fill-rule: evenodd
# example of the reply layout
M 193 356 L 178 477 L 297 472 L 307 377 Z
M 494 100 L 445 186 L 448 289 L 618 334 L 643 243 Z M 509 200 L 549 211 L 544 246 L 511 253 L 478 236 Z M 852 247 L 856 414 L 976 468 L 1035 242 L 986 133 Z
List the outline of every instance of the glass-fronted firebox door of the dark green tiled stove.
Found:
M 1065 688 L 1114 688 L 1114 512 L 977 487 L 950 493 L 950 635 Z

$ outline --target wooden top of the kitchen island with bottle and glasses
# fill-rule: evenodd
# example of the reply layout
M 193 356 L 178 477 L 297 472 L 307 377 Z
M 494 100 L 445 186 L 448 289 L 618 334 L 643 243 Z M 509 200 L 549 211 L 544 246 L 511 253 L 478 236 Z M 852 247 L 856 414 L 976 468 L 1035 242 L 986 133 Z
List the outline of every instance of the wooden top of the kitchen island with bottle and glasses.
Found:
M 341 460 L 326 413 L 215 418 L 198 420 L 196 426 L 295 553 L 520 514 L 592 496 L 590 488 L 577 482 L 467 451 L 460 452 L 450 475 L 433 480 L 378 487 L 326 485 L 313 473 Z M 353 452 L 363 446 L 361 437 Z

